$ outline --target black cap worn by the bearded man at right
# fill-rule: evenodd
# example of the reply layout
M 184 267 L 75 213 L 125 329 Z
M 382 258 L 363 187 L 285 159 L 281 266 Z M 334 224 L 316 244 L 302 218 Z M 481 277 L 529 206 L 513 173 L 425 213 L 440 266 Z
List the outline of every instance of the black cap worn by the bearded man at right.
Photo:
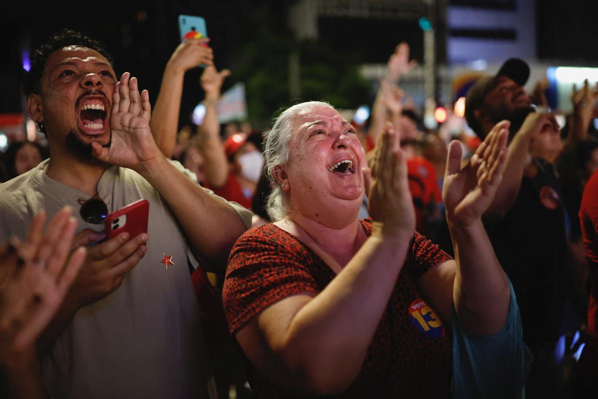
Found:
M 474 111 L 483 105 L 484 98 L 495 87 L 496 78 L 499 76 L 505 76 L 519 86 L 523 86 L 529 78 L 529 65 L 524 60 L 509 58 L 502 64 L 496 75 L 480 78 L 474 86 L 471 86 L 465 98 L 465 120 L 478 135 L 481 134 L 481 126 L 475 119 Z

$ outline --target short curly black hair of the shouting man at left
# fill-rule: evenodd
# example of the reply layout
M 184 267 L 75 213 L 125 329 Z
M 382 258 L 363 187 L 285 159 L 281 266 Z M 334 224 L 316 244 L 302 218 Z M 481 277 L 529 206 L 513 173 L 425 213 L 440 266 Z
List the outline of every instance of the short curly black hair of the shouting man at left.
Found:
M 23 93 L 25 96 L 29 96 L 31 93 L 39 93 L 39 81 L 41 75 L 44 73 L 45 63 L 48 60 L 48 56 L 54 53 L 60 48 L 67 47 L 69 45 L 80 45 L 83 47 L 91 48 L 102 54 L 108 60 L 109 63 L 113 63 L 112 56 L 105 50 L 104 45 L 92 39 L 82 33 L 71 31 L 71 29 L 63 29 L 61 32 L 54 33 L 50 36 L 47 42 L 42 44 L 37 50 L 33 51 L 31 56 L 31 68 L 29 72 L 25 74 L 23 80 Z

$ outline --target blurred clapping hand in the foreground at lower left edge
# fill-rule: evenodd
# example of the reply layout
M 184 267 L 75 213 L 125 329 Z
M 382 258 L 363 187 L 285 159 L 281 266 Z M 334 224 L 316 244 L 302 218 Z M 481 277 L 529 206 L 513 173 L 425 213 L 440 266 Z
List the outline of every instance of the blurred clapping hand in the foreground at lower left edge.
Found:
M 56 315 L 86 257 L 71 254 L 77 221 L 65 207 L 48 223 L 33 217 L 28 237 L 0 248 L 0 364 L 17 397 L 42 397 L 36 366 L 36 342 Z

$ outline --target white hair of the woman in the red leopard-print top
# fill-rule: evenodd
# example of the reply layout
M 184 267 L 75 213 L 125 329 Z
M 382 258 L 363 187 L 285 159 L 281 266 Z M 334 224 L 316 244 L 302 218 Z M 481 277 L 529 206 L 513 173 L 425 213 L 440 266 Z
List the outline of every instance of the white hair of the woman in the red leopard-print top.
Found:
M 286 194 L 280 188 L 280 182 L 274 177 L 274 170 L 277 167 L 287 166 L 289 163 L 289 141 L 292 133 L 297 126 L 295 126 L 295 119 L 300 115 L 309 114 L 314 108 L 320 106 L 329 106 L 334 109 L 332 105 L 322 101 L 307 101 L 290 108 L 285 109 L 274 120 L 272 129 L 264 135 L 264 156 L 266 157 L 266 173 L 268 178 L 274 184 L 274 188 L 268 196 L 266 204 L 266 211 L 270 215 L 272 221 L 277 221 L 284 218 L 288 213 L 288 199 Z

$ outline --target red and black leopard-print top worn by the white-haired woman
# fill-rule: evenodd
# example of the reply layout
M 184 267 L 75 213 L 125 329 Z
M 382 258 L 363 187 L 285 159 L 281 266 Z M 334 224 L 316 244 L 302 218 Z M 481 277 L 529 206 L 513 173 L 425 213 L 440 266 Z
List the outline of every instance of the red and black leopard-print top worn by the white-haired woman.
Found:
M 371 220 L 362 220 L 368 236 Z M 415 233 L 385 313 L 358 377 L 338 398 L 450 397 L 451 338 L 422 300 L 417 279 L 450 256 Z M 228 259 L 222 297 L 231 333 L 276 301 L 292 294 L 319 293 L 335 273 L 299 239 L 274 224 L 251 229 Z M 367 298 L 364 298 L 367 300 Z M 251 367 L 257 398 L 288 398 L 289 392 Z

